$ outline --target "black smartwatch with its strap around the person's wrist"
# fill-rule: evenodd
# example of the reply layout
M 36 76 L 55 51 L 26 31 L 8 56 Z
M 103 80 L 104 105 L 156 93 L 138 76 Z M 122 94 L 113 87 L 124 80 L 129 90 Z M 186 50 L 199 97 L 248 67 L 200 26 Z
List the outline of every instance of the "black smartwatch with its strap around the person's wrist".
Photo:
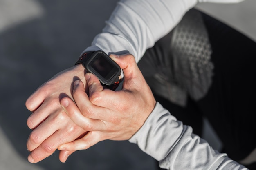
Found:
M 93 73 L 103 86 L 111 90 L 115 90 L 124 78 L 120 66 L 103 51 L 83 53 L 76 62 L 80 63 L 88 72 Z

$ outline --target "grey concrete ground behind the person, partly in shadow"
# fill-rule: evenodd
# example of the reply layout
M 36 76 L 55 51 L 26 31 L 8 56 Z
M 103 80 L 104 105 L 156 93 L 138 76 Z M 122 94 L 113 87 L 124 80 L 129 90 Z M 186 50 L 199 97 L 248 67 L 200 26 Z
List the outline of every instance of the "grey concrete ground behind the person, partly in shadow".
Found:
M 27 161 L 27 97 L 101 32 L 117 0 L 0 0 L 0 170 L 156 170 L 153 158 L 128 141 L 103 141 L 71 155 Z M 198 8 L 256 40 L 256 1 L 200 4 Z M 209 129 L 209 125 L 206 126 Z M 218 140 L 205 136 L 215 148 Z M 207 136 L 208 135 L 208 136 Z M 217 142 L 217 144 L 216 144 Z

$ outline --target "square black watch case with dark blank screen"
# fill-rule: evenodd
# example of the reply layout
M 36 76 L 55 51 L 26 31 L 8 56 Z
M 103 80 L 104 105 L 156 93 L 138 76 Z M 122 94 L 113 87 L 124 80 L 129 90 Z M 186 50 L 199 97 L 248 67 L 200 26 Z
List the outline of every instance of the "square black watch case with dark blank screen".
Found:
M 119 75 L 119 66 L 108 55 L 98 53 L 88 65 L 93 73 L 103 82 L 108 83 L 112 77 Z M 100 76 L 99 76 L 100 75 Z

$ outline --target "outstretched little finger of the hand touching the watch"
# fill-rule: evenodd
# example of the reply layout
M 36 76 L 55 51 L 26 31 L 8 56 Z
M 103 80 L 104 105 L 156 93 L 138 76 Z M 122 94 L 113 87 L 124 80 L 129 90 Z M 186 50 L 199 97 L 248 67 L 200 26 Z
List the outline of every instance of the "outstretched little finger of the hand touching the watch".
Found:
M 99 132 L 88 132 L 87 135 L 81 139 L 77 139 L 67 144 L 63 144 L 58 147 L 58 150 L 74 151 L 74 150 L 84 150 L 102 141 Z M 68 152 L 67 152 L 68 153 Z

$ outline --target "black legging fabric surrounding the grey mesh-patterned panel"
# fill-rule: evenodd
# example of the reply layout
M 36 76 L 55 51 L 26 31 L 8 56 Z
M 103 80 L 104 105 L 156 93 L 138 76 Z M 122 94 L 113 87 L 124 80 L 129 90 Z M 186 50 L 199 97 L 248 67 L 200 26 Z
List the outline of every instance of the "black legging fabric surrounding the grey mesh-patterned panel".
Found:
M 202 132 L 202 116 L 207 117 L 223 143 L 223 152 L 239 161 L 256 148 L 256 43 L 226 24 L 199 13 L 208 33 L 214 65 L 211 86 L 202 98 L 195 100 L 189 96 L 186 106 L 179 106 L 161 93 L 155 93 L 165 88 L 157 83 L 154 73 L 159 69 L 156 63 L 161 64 L 159 60 L 173 55 L 170 48 L 173 31 L 148 49 L 138 65 L 157 101 L 184 124 L 192 126 L 198 135 Z M 167 65 L 171 67 L 172 63 Z

